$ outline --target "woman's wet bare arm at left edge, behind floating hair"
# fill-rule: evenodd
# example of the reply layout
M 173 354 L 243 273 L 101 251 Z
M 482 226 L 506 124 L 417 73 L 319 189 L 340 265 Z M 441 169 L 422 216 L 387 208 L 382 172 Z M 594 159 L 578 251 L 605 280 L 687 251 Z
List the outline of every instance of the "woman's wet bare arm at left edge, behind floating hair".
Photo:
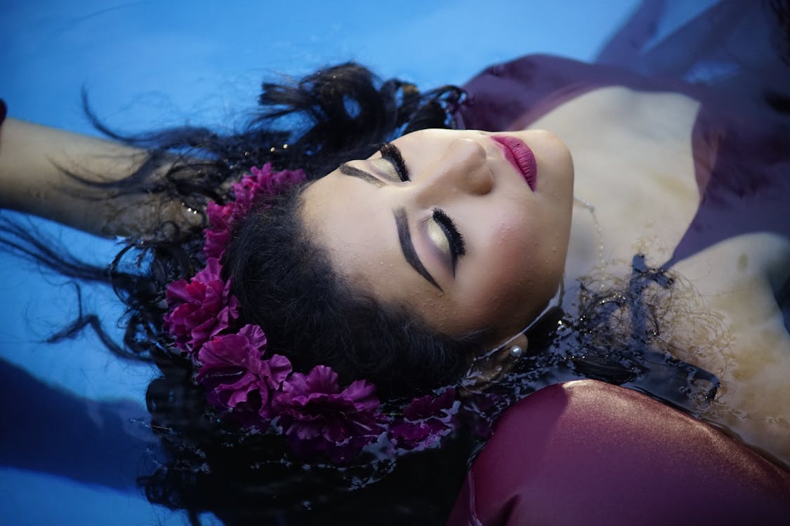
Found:
M 145 150 L 17 119 L 0 127 L 0 208 L 61 222 L 100 236 L 138 236 L 162 222 L 199 218 L 164 194 L 119 195 L 88 181 L 119 181 L 148 158 Z M 164 162 L 157 171 L 165 173 Z

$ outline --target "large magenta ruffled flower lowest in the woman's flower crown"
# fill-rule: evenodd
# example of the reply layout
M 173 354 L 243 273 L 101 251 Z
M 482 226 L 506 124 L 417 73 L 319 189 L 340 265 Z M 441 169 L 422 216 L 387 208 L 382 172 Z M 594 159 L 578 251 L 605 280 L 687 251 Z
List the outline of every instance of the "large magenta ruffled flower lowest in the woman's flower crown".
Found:
M 336 462 L 352 460 L 382 433 L 373 384 L 358 380 L 340 391 L 337 374 L 318 365 L 294 373 L 273 401 L 280 427 L 297 453 L 323 451 Z

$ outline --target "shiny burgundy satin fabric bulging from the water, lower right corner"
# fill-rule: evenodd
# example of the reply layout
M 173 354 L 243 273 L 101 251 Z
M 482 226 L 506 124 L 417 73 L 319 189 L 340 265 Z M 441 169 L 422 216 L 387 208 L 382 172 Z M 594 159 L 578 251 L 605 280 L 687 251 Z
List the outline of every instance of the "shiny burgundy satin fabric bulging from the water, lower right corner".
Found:
M 784 526 L 790 473 L 720 431 L 595 380 L 513 405 L 448 526 Z

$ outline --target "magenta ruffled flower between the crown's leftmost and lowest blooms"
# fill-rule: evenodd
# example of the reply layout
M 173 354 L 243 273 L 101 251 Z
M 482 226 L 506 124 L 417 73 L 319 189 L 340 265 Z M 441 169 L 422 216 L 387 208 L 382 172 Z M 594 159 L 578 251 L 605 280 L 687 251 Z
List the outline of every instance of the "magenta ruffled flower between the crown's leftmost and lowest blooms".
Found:
M 280 355 L 263 360 L 265 349 L 266 335 L 257 325 L 243 326 L 236 334 L 220 335 L 203 345 L 195 379 L 206 387 L 209 403 L 272 418 L 270 395 L 291 373 L 291 362 Z

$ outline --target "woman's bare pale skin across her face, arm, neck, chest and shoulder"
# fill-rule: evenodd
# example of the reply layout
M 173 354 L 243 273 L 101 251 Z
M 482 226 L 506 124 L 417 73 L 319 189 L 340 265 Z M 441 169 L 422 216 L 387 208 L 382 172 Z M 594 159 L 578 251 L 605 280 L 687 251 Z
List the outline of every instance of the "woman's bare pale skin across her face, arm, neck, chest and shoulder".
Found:
M 446 332 L 493 329 L 488 349 L 508 342 L 495 356 L 495 372 L 501 372 L 508 363 L 509 345 L 529 345 L 518 330 L 555 293 L 563 272 L 566 296 L 573 297 L 578 278 L 602 267 L 611 274 L 627 274 L 637 252 L 645 253 L 653 265 L 669 259 L 700 198 L 690 144 L 697 111 L 698 103 L 684 95 L 600 88 L 531 123 L 530 129 L 551 130 L 551 134 L 529 130 L 517 135 L 535 152 L 536 192 L 529 192 L 524 181 L 510 173 L 513 178 L 506 185 L 512 185 L 508 187 L 512 191 L 496 194 L 504 200 L 523 196 L 525 206 L 513 210 L 525 214 L 525 227 L 516 233 L 512 214 L 491 215 L 480 204 L 501 190 L 508 167 L 495 158 L 495 148 L 487 150 L 490 145 L 483 135 L 470 132 L 457 136 L 423 132 L 395 141 L 403 146 L 412 171 L 410 183 L 384 181 L 386 185 L 379 188 L 358 177 L 330 173 L 304 192 L 303 219 L 328 248 L 338 270 L 382 300 L 405 301 L 416 315 Z M 0 129 L 0 207 L 105 236 L 134 233 L 137 224 L 145 232 L 149 226 L 139 216 L 137 203 L 107 202 L 86 214 L 80 200 L 52 189 L 53 182 L 70 181 L 62 179 L 51 161 L 89 166 L 104 177 L 124 177 L 134 161 L 119 165 L 96 159 L 108 152 L 134 159 L 137 152 L 32 126 L 9 119 Z M 427 160 L 420 161 L 414 152 L 428 155 Z M 448 152 L 455 156 L 445 159 L 456 160 L 442 164 Z M 374 177 L 391 177 L 389 163 L 378 158 L 377 154 L 348 165 Z M 462 170 L 464 166 L 468 170 Z M 480 176 L 486 170 L 490 179 Z M 623 177 L 624 173 L 630 177 Z M 425 178 L 437 174 L 461 178 L 450 185 Z M 330 184 L 335 190 L 323 192 L 322 185 Z M 397 193 L 389 192 L 393 185 L 401 185 Z M 408 197 L 408 192 L 415 196 Z M 574 204 L 574 193 L 595 206 L 603 262 L 592 214 L 578 201 Z M 451 205 L 453 200 L 456 204 Z M 194 220 L 179 203 L 156 203 L 156 196 L 148 196 L 142 204 L 156 207 L 160 217 Z M 469 208 L 479 204 L 477 211 Z M 393 218 L 393 209 L 404 207 L 415 250 L 439 287 L 404 259 Z M 447 209 L 448 215 L 455 207 L 453 222 L 465 237 L 465 255 L 458 258 L 454 274 L 442 252 L 443 231 L 431 222 L 435 207 Z M 503 242 L 481 246 L 492 239 L 491 229 Z M 521 258 L 522 253 L 529 257 Z M 681 320 L 672 327 L 674 333 L 683 334 L 683 345 L 672 352 L 721 380 L 717 400 L 702 416 L 774 461 L 790 465 L 790 335 L 776 299 L 790 278 L 790 240 L 770 233 L 733 237 L 680 261 L 672 270 L 689 288 L 690 308 L 704 309 L 723 328 L 711 350 L 711 334 L 699 330 L 693 319 L 687 326 Z M 519 271 L 526 276 L 512 279 L 512 273 Z M 698 348 L 709 350 L 698 353 Z

